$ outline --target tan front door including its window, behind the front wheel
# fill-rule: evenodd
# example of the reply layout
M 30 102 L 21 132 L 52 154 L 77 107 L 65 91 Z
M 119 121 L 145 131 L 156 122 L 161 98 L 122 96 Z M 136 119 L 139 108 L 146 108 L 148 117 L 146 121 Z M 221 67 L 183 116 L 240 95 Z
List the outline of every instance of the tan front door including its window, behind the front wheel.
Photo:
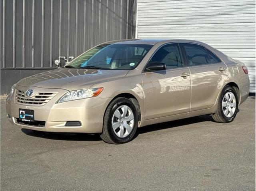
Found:
M 162 46 L 152 62 L 164 62 L 166 70 L 142 73 L 145 119 L 190 111 L 190 72 L 178 44 Z

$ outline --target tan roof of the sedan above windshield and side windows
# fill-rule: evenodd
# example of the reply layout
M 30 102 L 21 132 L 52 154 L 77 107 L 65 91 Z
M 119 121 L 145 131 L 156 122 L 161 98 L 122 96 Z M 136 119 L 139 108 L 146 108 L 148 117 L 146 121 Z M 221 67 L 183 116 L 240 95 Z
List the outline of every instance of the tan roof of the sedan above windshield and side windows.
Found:
M 126 39 L 126 40 L 114 40 L 109 42 L 104 42 L 102 44 L 152 44 L 155 45 L 158 42 L 194 42 L 194 43 L 202 43 L 196 40 L 185 40 L 185 39 Z

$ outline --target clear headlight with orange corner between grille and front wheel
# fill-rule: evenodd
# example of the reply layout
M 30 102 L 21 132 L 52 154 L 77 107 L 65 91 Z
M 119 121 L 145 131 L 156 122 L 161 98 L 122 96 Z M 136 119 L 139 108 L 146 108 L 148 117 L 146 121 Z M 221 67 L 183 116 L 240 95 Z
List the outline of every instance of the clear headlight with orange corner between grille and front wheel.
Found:
M 93 88 L 93 89 L 70 91 L 70 92 L 64 94 L 64 96 L 62 96 L 60 98 L 58 103 L 76 100 L 76 99 L 84 99 L 84 98 L 88 98 L 88 97 L 95 97 L 95 96 L 98 96 L 102 92 L 102 90 L 103 90 L 103 88 Z

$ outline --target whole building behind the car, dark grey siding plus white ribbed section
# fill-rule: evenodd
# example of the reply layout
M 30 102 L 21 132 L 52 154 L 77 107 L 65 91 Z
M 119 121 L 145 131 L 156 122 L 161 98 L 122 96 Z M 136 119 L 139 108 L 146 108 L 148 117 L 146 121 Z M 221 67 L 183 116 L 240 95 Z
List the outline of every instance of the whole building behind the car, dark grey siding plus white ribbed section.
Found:
M 102 42 L 183 38 L 248 66 L 255 93 L 254 0 L 1 0 L 1 95 Z

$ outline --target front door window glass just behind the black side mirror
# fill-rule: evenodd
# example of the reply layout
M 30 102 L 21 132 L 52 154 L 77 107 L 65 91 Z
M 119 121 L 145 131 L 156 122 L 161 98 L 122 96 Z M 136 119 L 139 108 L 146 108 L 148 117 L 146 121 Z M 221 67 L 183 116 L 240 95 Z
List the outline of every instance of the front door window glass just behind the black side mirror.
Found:
M 162 46 L 151 58 L 150 63 L 164 62 L 166 69 L 183 66 L 178 44 L 167 44 Z

